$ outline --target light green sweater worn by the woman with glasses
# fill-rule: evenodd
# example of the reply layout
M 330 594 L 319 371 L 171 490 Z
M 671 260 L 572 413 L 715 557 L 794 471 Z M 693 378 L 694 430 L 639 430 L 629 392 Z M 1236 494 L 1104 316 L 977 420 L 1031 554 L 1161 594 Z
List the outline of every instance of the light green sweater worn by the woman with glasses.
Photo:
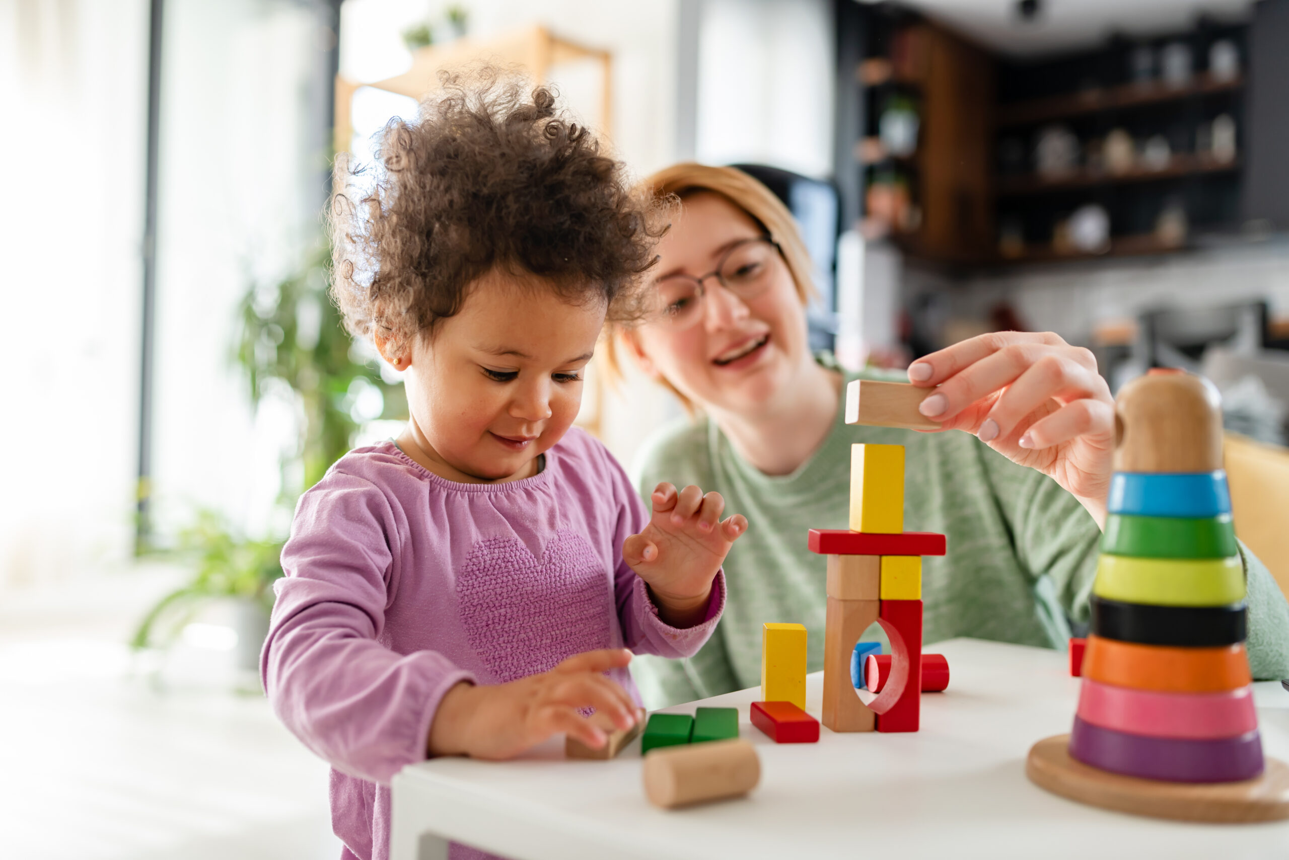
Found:
M 744 461 L 714 422 L 681 420 L 660 430 L 635 461 L 644 503 L 659 481 L 697 484 L 724 496 L 726 514 L 742 514 L 750 527 L 726 559 L 728 600 L 708 644 L 688 659 L 632 662 L 646 706 L 758 685 L 764 622 L 806 624 L 809 671 L 824 667 L 826 563 L 806 548 L 806 536 L 812 528 L 847 528 L 853 443 L 904 445 L 905 529 L 949 538 L 946 556 L 923 559 L 923 641 L 974 636 L 1065 649 L 1066 617 L 1087 622 L 1101 539 L 1096 521 L 1054 480 L 976 436 L 848 426 L 839 406 L 820 449 L 793 474 L 771 476 Z M 1250 668 L 1257 678 L 1289 677 L 1289 605 L 1266 566 L 1240 550 Z M 865 640 L 884 636 L 874 626 Z

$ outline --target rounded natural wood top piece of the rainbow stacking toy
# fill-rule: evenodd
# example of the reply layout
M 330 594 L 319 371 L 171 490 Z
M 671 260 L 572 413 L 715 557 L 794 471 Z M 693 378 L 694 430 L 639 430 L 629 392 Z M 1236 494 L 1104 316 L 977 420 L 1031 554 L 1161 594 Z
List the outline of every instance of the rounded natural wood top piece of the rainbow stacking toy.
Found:
M 1216 471 L 1222 467 L 1217 388 L 1182 371 L 1151 371 L 1115 398 L 1115 471 Z

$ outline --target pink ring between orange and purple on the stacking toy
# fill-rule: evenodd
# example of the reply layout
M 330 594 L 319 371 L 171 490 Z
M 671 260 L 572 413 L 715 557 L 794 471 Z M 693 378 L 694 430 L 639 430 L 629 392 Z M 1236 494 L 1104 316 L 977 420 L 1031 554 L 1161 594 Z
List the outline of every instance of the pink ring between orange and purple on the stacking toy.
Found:
M 1252 686 L 1228 693 L 1155 693 L 1084 678 L 1079 716 L 1102 729 L 1152 738 L 1232 738 L 1258 727 Z

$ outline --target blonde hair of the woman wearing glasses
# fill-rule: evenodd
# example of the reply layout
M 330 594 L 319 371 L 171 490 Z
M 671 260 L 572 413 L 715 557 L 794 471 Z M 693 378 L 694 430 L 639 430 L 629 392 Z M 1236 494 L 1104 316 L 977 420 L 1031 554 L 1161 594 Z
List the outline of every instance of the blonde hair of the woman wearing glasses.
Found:
M 654 201 L 663 203 L 668 198 L 683 201 L 693 194 L 713 193 L 724 197 L 736 209 L 745 212 L 757 221 L 782 251 L 788 272 L 793 277 L 797 287 L 797 296 L 804 305 L 816 295 L 815 283 L 811 281 L 809 252 L 806 242 L 802 241 L 800 232 L 793 214 L 788 211 L 784 202 L 761 182 L 735 167 L 713 167 L 700 165 L 695 161 L 684 161 L 657 171 L 652 176 L 641 182 L 639 188 L 652 196 Z M 623 379 L 621 363 L 617 358 L 617 344 L 626 336 L 632 323 L 614 322 L 608 326 L 608 342 L 605 350 L 605 364 L 611 381 Z M 691 413 L 693 404 L 687 397 L 675 390 L 675 386 L 665 379 L 660 384 L 672 391 Z

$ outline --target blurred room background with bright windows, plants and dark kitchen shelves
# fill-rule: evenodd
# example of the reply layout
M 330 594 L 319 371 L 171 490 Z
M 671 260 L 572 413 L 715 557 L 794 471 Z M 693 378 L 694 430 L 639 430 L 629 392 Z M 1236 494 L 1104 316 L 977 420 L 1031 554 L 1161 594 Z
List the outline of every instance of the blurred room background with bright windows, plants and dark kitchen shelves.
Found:
M 255 655 L 295 498 L 405 402 L 320 211 L 478 57 L 635 175 L 764 179 L 846 364 L 1051 330 L 1114 388 L 1207 373 L 1289 586 L 1289 0 L 0 0 L 9 854 L 338 855 Z M 678 415 L 593 373 L 579 422 L 629 463 Z

